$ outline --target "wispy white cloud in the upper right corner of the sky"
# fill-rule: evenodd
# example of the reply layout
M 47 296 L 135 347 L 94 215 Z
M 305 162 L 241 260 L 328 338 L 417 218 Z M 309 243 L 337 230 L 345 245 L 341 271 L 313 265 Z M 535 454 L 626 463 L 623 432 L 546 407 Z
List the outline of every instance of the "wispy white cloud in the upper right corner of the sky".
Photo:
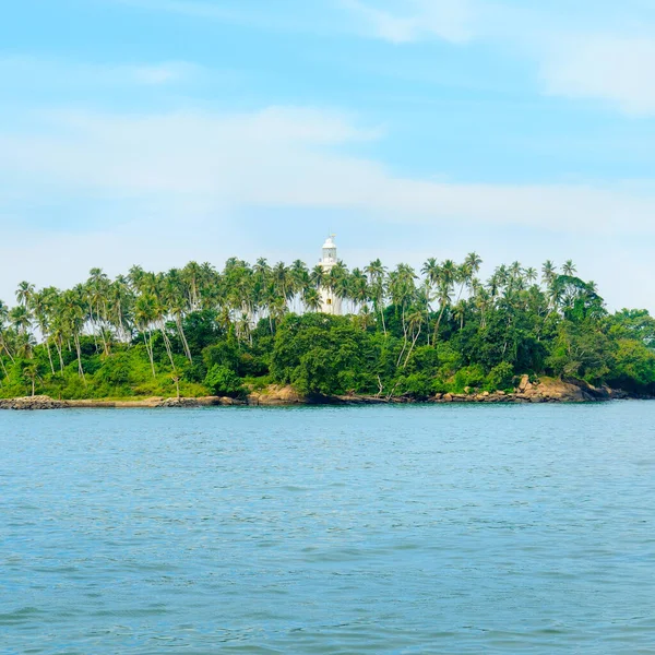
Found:
M 605 100 L 629 116 L 655 116 L 655 12 L 646 3 L 632 2 L 617 13 L 616 5 L 604 2 L 341 1 L 377 38 L 500 45 L 534 61 L 546 94 Z

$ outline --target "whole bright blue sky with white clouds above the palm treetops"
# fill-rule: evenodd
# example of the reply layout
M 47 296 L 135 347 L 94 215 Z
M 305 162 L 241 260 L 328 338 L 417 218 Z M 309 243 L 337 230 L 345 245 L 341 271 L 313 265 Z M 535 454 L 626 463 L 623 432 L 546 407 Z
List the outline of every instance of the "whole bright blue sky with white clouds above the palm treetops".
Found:
M 23 0 L 0 298 L 93 266 L 572 259 L 655 311 L 652 0 Z

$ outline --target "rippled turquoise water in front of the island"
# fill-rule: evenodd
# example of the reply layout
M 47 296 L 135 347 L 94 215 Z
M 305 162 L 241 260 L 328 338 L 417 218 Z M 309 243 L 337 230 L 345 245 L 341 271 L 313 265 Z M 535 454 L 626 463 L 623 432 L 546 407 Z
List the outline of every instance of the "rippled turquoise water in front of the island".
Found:
M 0 413 L 0 653 L 655 653 L 655 403 Z

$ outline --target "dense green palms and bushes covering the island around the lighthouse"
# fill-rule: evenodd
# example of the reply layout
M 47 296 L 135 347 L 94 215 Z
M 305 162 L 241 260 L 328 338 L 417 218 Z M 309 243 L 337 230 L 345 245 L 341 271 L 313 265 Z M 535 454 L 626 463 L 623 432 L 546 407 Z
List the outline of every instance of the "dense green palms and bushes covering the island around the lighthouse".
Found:
M 609 314 L 567 262 L 515 262 L 487 283 L 480 259 L 377 260 L 329 274 L 230 259 L 168 273 L 99 269 L 61 291 L 21 283 L 0 302 L 0 397 L 243 396 L 267 384 L 314 394 L 425 398 L 507 390 L 516 376 L 581 378 L 655 394 L 655 320 Z M 318 313 L 324 286 L 346 317 Z

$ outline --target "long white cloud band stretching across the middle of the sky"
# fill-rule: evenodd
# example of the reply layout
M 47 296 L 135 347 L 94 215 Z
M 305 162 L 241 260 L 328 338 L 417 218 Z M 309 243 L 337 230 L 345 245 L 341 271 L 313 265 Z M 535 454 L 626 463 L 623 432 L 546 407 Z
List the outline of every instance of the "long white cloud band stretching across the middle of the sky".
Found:
M 446 183 L 393 175 L 336 146 L 369 140 L 338 114 L 56 114 L 50 135 L 0 133 L 0 170 L 76 193 L 193 195 L 222 206 L 341 207 L 385 221 L 451 219 L 563 233 L 655 233 L 648 186 Z M 15 190 L 14 190 L 15 192 Z M 627 216 L 630 222 L 627 222 Z

